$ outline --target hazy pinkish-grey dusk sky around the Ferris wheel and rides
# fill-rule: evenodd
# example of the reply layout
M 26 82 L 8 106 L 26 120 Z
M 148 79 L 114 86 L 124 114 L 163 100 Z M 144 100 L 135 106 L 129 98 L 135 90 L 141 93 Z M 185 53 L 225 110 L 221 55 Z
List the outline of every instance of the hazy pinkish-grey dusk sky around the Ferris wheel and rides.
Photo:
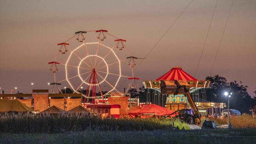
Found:
M 28 93 L 34 82 L 35 89 L 47 89 L 52 82 L 47 63 L 57 54 L 56 44 L 79 30 L 109 30 L 127 40 L 134 56 L 145 57 L 189 2 L 0 0 L 0 87 L 6 93 L 14 87 Z M 135 70 L 135 76 L 156 79 L 173 66 L 194 76 L 215 2 L 194 0 Z M 210 74 L 231 3 L 218 1 L 197 79 Z M 256 87 L 255 7 L 255 0 L 235 0 L 212 73 L 229 82 L 242 81 L 250 95 Z

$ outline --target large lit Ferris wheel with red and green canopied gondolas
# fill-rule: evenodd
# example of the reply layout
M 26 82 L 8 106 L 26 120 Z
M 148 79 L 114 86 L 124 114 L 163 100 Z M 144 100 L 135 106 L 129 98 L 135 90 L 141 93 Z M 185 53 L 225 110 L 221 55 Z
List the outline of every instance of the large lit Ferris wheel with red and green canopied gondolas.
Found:
M 90 38 L 89 32 L 94 32 L 96 39 L 95 37 Z M 108 41 L 106 39 L 107 35 L 110 35 L 113 39 Z M 67 42 L 74 37 L 76 38 L 76 43 L 74 44 L 78 45 L 71 50 L 69 48 L 71 44 Z M 87 39 L 88 41 L 86 41 Z M 96 98 L 102 98 L 104 102 L 106 94 L 113 90 L 121 94 L 117 89 L 121 78 L 131 80 L 128 89 L 133 87 L 132 83 L 135 83 L 135 79 L 139 79 L 134 77 L 133 72 L 133 68 L 136 65 L 134 59 L 138 58 L 130 54 L 124 42 L 126 40 L 111 35 L 107 30 L 95 30 L 78 31 L 67 41 L 57 44 L 59 46 L 58 55 L 54 61 L 48 63 L 51 65 L 50 70 L 54 74 L 54 83 L 50 83 L 53 85 L 52 91 L 55 92 L 55 88 L 57 92 L 62 93 L 59 87 L 61 83 L 66 81 L 74 93 L 83 95 L 84 103 L 95 103 Z M 126 50 L 128 57 L 120 60 L 115 50 L 123 49 Z M 66 57 L 63 58 L 61 57 L 62 55 L 66 55 Z M 65 61 L 61 63 L 61 60 Z M 128 61 L 128 65 L 132 68 L 131 76 L 122 75 L 122 61 Z M 65 78 L 58 81 L 56 72 L 59 70 L 59 65 L 64 66 Z M 102 87 L 105 89 L 104 94 Z M 83 88 L 86 89 L 85 93 L 82 92 Z M 128 92 L 128 89 L 126 89 L 124 95 Z

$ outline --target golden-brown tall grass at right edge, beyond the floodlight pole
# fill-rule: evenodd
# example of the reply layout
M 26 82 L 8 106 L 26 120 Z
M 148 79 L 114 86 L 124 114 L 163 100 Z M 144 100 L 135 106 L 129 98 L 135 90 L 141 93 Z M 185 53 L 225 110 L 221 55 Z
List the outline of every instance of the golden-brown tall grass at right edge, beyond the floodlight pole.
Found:
M 217 118 L 212 117 L 206 118 L 208 120 L 214 120 L 215 124 L 223 125 L 228 124 L 228 118 Z M 250 114 L 243 114 L 241 116 L 230 116 L 230 123 L 234 128 L 256 128 L 256 118 Z

